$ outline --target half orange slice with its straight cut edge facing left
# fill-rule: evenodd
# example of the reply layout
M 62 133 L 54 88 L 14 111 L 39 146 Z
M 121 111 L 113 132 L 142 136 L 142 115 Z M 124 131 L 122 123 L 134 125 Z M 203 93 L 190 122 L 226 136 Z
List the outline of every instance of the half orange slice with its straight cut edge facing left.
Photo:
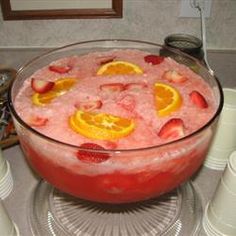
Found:
M 182 97 L 174 87 L 164 83 L 156 83 L 155 103 L 158 116 L 167 116 L 181 107 Z

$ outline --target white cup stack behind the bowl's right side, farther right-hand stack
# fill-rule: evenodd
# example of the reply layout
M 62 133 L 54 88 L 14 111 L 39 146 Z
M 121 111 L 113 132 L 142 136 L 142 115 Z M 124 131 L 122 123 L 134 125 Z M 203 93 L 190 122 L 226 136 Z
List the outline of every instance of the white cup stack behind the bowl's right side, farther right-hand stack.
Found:
M 204 166 L 224 170 L 236 150 L 236 89 L 223 88 L 224 105 Z

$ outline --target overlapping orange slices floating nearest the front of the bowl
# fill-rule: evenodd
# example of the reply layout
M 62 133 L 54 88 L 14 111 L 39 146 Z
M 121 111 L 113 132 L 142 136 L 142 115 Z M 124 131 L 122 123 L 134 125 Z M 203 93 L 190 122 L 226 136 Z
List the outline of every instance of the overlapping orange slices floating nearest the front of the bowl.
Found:
M 106 113 L 77 110 L 69 119 L 70 127 L 91 139 L 112 140 L 129 135 L 134 130 L 132 120 Z

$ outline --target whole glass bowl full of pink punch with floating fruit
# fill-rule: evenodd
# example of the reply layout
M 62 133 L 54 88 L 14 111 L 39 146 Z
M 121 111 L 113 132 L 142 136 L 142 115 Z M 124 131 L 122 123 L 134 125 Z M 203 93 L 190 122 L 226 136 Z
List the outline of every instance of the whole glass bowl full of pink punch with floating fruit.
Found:
M 89 41 L 19 70 L 9 106 L 43 179 L 79 198 L 125 203 L 171 191 L 199 169 L 222 109 L 221 87 L 195 59 L 173 51 L 176 61 L 160 50 Z

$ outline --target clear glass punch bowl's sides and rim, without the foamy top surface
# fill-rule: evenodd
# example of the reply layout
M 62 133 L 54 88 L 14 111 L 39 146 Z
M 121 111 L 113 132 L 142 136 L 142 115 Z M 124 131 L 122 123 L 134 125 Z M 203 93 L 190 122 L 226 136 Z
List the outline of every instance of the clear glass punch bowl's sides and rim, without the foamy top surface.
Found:
M 174 60 L 190 67 L 212 88 L 216 112 L 199 130 L 164 145 L 129 150 L 93 149 L 93 153 L 108 153 L 111 157 L 106 165 L 99 165 L 99 171 L 98 164 L 78 162 L 76 165 L 67 165 L 68 155 L 83 148 L 53 140 L 27 125 L 14 108 L 16 94 L 25 79 L 54 60 L 111 49 L 139 49 L 156 55 L 160 55 L 163 50 L 171 51 Z M 22 67 L 9 92 L 10 111 L 21 147 L 31 167 L 61 191 L 103 203 L 137 202 L 158 197 L 187 181 L 206 157 L 222 105 L 222 89 L 217 79 L 195 58 L 155 43 L 131 40 L 88 41 L 50 51 Z M 162 158 L 159 158 L 160 153 Z

